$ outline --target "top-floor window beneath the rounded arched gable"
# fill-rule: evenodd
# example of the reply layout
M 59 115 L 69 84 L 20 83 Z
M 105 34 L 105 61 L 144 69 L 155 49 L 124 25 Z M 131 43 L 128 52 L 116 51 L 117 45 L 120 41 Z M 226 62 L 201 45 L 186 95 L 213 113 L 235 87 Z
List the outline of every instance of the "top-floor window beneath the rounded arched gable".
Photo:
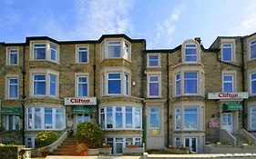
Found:
M 197 62 L 197 45 L 186 44 L 185 45 L 185 62 Z

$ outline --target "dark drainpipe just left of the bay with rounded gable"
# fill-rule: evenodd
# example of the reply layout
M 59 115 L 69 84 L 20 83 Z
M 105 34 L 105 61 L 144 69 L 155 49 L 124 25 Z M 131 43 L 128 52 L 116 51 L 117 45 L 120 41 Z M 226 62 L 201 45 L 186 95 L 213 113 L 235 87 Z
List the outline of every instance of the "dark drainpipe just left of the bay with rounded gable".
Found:
M 166 55 L 167 65 L 166 65 L 166 73 L 167 73 L 167 146 L 169 147 L 169 53 Z

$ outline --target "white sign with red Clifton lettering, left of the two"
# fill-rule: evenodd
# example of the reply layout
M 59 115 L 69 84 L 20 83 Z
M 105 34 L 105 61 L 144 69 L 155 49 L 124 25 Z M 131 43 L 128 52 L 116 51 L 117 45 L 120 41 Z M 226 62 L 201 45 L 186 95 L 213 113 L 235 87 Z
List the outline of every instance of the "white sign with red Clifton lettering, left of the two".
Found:
M 97 104 L 96 97 L 67 97 L 64 100 L 65 105 L 92 105 Z

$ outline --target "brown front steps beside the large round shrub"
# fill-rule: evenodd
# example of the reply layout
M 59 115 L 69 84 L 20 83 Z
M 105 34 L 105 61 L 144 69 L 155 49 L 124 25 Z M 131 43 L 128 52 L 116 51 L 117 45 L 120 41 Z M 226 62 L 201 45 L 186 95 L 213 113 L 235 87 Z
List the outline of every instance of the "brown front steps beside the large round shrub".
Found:
M 77 153 L 77 139 L 68 137 L 50 155 L 78 155 L 78 153 Z

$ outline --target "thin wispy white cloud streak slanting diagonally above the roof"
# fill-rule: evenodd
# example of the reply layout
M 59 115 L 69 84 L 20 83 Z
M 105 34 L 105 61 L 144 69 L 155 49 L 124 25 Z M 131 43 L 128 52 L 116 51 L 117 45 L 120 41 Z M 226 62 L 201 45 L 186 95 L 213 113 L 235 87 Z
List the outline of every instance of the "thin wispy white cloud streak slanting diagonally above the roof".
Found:
M 176 23 L 179 22 L 180 15 L 185 11 L 187 7 L 187 1 L 183 1 L 177 6 L 167 19 L 157 24 L 156 36 L 154 42 L 151 44 L 153 47 L 158 47 L 160 40 L 166 39 L 168 45 L 172 42 L 172 35 L 176 29 Z M 161 41 L 162 42 L 162 41 Z M 150 45 L 151 46 L 151 45 Z

